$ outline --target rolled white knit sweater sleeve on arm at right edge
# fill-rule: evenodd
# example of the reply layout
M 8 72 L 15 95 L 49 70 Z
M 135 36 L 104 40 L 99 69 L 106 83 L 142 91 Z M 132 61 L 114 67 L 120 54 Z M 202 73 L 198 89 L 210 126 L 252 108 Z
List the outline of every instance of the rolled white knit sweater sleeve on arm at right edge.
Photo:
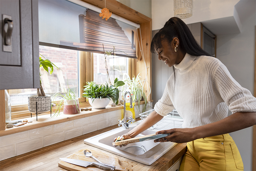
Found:
M 226 66 L 221 62 L 215 70 L 213 86 L 217 89 L 232 114 L 256 111 L 256 98 L 231 76 Z

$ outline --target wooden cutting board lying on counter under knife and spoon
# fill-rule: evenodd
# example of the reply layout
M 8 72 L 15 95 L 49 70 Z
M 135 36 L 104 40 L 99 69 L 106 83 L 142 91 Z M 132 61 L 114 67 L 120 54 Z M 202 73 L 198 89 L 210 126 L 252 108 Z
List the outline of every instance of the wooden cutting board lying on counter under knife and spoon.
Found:
M 90 150 L 92 155 L 96 157 L 98 160 L 100 160 L 102 163 L 110 164 L 112 166 L 115 166 L 115 170 L 121 170 L 121 171 L 133 171 L 133 169 L 125 168 L 123 166 L 119 165 L 119 160 L 115 155 L 112 154 L 107 154 L 104 152 L 100 151 L 94 151 L 91 149 L 82 149 L 79 150 L 75 153 L 72 153 L 68 157 L 65 158 L 70 158 L 70 159 L 77 159 L 77 160 L 84 160 L 84 161 L 92 161 L 92 162 L 97 162 L 91 157 L 86 157 L 83 153 L 85 150 Z M 61 168 L 64 168 L 69 171 L 102 171 L 101 169 L 95 167 L 95 166 L 87 166 L 87 167 L 82 167 L 82 166 L 77 166 L 74 164 L 67 163 L 65 161 L 60 160 L 58 163 L 58 166 Z

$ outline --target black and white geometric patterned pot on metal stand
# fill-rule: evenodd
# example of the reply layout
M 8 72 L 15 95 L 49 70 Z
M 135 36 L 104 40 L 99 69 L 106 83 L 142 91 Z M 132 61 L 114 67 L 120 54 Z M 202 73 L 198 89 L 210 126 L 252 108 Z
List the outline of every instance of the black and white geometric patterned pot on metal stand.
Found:
M 45 95 L 37 97 L 37 95 L 28 96 L 28 111 L 30 113 L 45 113 L 51 110 L 51 96 Z

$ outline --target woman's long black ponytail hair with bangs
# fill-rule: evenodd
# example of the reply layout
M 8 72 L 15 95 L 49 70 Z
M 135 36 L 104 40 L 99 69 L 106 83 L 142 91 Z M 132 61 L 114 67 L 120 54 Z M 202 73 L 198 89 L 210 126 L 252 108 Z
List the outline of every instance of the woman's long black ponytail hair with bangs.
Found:
M 170 18 L 153 37 L 150 47 L 151 53 L 155 53 L 155 49 L 162 47 L 162 40 L 167 40 L 171 43 L 174 37 L 179 39 L 179 46 L 184 52 L 192 56 L 210 56 L 198 45 L 188 26 L 177 17 Z

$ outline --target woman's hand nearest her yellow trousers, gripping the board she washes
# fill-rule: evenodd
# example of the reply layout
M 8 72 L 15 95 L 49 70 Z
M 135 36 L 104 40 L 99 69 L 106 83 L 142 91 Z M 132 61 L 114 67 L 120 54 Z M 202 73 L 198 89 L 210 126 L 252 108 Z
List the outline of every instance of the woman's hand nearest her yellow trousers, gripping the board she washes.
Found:
M 167 134 L 170 133 L 170 135 L 155 139 L 154 142 L 174 142 L 174 143 L 187 143 L 190 141 L 195 140 L 194 133 L 192 132 L 193 128 L 173 128 L 170 130 L 162 130 L 156 132 L 156 134 Z

